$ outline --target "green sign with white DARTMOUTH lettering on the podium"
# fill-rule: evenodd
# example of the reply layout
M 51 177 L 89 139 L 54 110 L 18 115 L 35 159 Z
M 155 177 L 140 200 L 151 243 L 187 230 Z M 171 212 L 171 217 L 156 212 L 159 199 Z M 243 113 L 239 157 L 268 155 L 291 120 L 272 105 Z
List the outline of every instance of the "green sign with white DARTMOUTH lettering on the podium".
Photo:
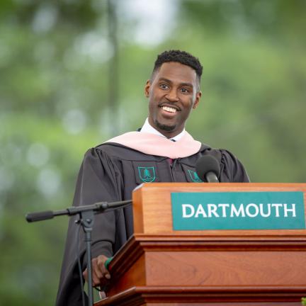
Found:
M 171 193 L 174 230 L 305 229 L 302 192 Z

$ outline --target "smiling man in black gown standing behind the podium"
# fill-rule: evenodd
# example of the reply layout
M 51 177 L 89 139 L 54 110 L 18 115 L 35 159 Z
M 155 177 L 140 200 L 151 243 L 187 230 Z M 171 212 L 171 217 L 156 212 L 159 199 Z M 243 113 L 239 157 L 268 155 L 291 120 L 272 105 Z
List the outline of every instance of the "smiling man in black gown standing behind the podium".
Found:
M 199 181 L 196 161 L 205 154 L 220 163 L 221 182 L 248 182 L 242 164 L 223 149 L 212 149 L 193 140 L 186 120 L 200 102 L 203 67 L 187 52 L 171 50 L 157 57 L 151 79 L 145 85 L 149 118 L 140 132 L 128 132 L 86 152 L 74 196 L 74 205 L 129 200 L 143 182 Z M 131 206 L 95 216 L 92 232 L 93 283 L 111 278 L 104 266 L 132 235 Z M 77 226 L 70 220 L 57 305 L 81 305 L 77 268 Z M 82 242 L 82 238 L 79 239 Z M 84 247 L 82 271 L 87 279 Z

